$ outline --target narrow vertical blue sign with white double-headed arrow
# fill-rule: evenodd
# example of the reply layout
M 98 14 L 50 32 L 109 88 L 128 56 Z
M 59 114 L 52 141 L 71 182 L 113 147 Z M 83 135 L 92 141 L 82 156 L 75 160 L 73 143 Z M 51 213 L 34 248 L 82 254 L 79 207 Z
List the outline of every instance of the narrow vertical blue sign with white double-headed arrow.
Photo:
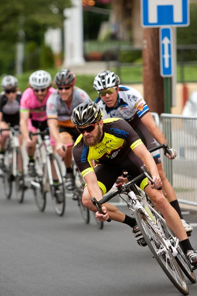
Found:
M 172 29 L 160 29 L 160 74 L 171 77 L 172 71 Z

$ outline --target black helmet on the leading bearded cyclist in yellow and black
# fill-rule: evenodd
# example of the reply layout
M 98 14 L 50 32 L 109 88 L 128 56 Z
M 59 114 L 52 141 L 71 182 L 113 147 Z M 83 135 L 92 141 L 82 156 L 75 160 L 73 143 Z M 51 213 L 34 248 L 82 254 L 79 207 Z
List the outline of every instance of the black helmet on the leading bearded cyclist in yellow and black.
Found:
M 98 122 L 102 117 L 102 111 L 95 102 L 85 101 L 72 111 L 72 123 L 75 126 L 84 126 Z

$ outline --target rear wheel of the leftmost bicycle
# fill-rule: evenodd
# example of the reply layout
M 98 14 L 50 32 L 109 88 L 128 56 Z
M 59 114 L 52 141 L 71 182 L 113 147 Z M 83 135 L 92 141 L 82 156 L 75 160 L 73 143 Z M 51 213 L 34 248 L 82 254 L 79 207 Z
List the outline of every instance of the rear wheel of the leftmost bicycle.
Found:
M 3 191 L 7 199 L 10 199 L 12 195 L 12 181 L 14 179 L 12 175 L 12 166 L 12 148 L 8 145 L 4 153 L 4 167 L 2 174 Z

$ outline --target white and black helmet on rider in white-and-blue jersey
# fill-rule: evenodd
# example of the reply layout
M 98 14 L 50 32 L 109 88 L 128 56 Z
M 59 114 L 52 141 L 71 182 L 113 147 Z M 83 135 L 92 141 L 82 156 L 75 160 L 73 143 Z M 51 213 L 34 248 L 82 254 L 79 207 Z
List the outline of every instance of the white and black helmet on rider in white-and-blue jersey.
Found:
M 104 88 L 118 86 L 120 78 L 114 72 L 109 70 L 100 72 L 94 80 L 94 89 L 99 91 Z

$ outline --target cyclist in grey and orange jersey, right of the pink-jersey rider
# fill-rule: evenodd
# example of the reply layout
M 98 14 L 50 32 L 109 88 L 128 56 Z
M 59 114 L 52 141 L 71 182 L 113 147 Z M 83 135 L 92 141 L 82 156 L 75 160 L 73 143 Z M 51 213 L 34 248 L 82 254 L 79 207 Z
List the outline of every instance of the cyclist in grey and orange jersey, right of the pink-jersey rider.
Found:
M 64 158 L 66 166 L 66 188 L 73 189 L 73 175 L 71 167 L 72 145 L 79 136 L 71 122 L 73 109 L 80 103 L 89 100 L 88 94 L 75 86 L 76 76 L 73 72 L 63 69 L 55 75 L 54 83 L 57 90 L 47 101 L 47 118 L 50 135 L 56 143 L 58 154 Z M 65 147 L 65 150 L 63 150 Z

